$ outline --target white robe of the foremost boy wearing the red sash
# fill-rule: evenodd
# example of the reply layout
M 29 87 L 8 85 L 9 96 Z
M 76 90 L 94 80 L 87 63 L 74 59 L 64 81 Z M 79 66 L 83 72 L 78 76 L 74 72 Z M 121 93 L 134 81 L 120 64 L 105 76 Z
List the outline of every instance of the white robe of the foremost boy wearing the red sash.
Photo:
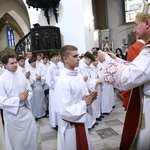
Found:
M 70 122 L 84 123 L 89 150 L 92 149 L 87 130 L 87 106 L 82 100 L 88 94 L 83 77 L 77 71 L 63 69 L 54 90 L 55 111 L 58 119 L 57 150 L 76 150 L 75 126 Z

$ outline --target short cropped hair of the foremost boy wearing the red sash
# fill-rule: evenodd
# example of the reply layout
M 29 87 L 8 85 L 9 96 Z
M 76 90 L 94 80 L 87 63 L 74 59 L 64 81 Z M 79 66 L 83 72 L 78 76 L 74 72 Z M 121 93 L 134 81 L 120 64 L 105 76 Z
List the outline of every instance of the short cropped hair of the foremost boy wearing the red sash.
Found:
M 60 50 L 60 57 L 63 61 L 63 57 L 64 56 L 68 56 L 70 51 L 77 51 L 78 48 L 73 46 L 73 45 L 65 45 L 62 47 L 62 49 Z

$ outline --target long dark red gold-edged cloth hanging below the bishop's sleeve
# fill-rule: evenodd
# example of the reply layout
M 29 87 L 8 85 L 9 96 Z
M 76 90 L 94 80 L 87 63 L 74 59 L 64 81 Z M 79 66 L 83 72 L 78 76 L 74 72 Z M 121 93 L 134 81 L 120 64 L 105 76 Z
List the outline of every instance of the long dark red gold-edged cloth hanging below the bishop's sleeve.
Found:
M 141 87 L 136 87 L 132 90 L 131 93 L 126 118 L 124 122 L 120 150 L 129 150 L 134 144 L 140 129 L 141 118 L 142 118 Z

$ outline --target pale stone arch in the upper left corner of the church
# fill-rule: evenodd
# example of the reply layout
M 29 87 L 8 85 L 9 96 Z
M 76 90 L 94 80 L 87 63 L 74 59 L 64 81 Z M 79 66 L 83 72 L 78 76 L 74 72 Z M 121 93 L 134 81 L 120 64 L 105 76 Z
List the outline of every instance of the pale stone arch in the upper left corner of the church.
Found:
M 29 14 L 23 0 L 1 0 L 0 31 L 6 24 L 12 26 L 20 38 L 29 32 Z

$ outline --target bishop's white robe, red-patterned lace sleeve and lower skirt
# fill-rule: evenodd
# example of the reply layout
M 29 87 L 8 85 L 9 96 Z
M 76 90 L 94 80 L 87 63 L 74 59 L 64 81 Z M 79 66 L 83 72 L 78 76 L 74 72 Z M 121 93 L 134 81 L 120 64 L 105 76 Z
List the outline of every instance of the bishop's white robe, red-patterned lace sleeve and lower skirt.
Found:
M 101 81 L 112 84 L 121 90 L 128 90 L 142 85 L 143 113 L 145 128 L 140 129 L 134 149 L 150 149 L 150 48 L 144 48 L 130 63 L 118 62 L 105 56 L 101 70 Z

